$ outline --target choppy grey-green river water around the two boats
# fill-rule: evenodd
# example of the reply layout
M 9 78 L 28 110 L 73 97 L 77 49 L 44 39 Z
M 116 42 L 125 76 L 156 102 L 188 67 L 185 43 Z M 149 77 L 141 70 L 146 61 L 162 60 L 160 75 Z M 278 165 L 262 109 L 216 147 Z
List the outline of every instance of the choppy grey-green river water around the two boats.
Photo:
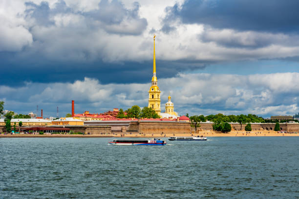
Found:
M 1 138 L 0 198 L 299 198 L 298 137 L 108 140 Z

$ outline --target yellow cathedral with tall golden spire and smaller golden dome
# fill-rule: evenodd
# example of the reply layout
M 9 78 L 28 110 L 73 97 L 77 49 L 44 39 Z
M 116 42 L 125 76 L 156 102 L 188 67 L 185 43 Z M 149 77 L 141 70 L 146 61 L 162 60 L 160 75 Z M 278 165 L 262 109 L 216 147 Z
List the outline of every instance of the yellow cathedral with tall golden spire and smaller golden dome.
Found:
M 153 51 L 153 66 L 151 86 L 149 88 L 149 107 L 156 111 L 162 118 L 177 118 L 177 113 L 174 112 L 174 106 L 171 102 L 171 96 L 168 97 L 168 102 L 165 104 L 165 113 L 161 113 L 161 91 L 158 86 L 156 76 L 156 55 L 155 55 L 155 35 L 154 35 L 154 51 Z

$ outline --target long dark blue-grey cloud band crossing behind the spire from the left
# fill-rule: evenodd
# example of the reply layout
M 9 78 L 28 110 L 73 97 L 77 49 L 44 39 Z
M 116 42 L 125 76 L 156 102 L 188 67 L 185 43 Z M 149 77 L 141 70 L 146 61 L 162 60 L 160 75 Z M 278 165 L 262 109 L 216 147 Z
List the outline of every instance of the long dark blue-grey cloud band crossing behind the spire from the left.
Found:
M 146 83 L 152 77 L 152 60 L 109 63 L 94 62 L 18 60 L 16 53 L 0 52 L 2 60 L 0 85 L 21 86 L 25 82 L 73 82 L 85 77 L 101 80 L 101 83 Z M 170 78 L 179 72 L 204 68 L 201 61 L 156 60 L 157 77 Z

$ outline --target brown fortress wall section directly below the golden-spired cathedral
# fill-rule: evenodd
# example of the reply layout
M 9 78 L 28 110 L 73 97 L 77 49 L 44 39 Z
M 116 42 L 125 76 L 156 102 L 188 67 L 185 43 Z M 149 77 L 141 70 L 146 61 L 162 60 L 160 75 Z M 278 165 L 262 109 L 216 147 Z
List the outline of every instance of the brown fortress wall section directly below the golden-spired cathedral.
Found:
M 141 134 L 180 134 L 190 133 L 191 127 L 189 122 L 138 122 L 138 132 Z

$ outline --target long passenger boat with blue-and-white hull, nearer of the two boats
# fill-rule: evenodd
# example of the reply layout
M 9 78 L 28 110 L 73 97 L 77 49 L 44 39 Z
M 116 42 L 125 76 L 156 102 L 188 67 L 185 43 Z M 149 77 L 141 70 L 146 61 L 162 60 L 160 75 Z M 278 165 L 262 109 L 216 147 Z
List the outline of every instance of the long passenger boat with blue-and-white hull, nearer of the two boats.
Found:
M 166 141 L 161 139 L 147 139 L 147 140 L 122 140 L 113 139 L 109 144 L 115 145 L 166 145 Z

